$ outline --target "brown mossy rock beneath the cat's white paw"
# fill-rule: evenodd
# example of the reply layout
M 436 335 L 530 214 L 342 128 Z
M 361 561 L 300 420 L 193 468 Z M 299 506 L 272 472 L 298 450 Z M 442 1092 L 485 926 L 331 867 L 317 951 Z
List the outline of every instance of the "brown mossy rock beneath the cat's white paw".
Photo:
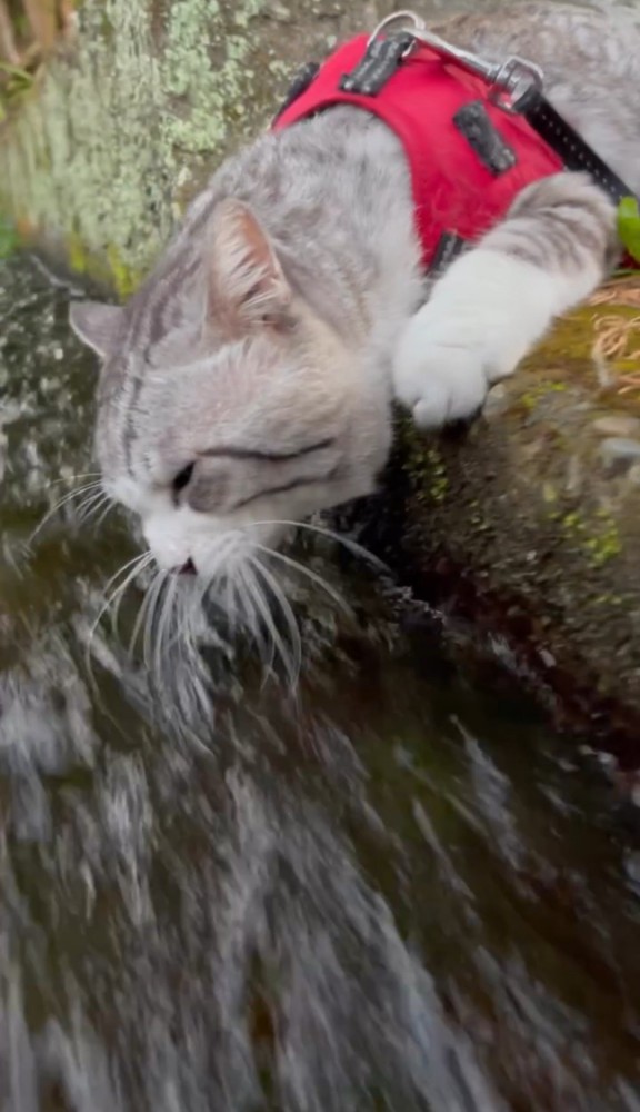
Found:
M 608 296 L 560 321 L 468 429 L 421 437 L 399 418 L 381 534 L 419 595 L 471 620 L 476 647 L 501 646 L 563 725 L 636 765 L 640 282 Z

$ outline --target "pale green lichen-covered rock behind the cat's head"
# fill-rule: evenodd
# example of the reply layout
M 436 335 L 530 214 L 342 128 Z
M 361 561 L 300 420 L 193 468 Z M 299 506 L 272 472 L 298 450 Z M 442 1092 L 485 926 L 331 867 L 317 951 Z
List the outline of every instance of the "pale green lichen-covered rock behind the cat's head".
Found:
M 300 61 L 363 9 L 83 0 L 72 38 L 1 126 L 0 212 L 126 296 L 224 155 L 264 127 Z

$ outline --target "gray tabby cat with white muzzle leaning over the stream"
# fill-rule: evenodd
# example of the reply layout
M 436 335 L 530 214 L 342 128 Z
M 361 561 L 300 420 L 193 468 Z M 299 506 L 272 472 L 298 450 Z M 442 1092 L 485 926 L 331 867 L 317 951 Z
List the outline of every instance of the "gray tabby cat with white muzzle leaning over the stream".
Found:
M 566 6 L 438 29 L 531 58 L 547 93 L 640 189 L 640 34 Z M 288 523 L 364 495 L 393 397 L 422 427 L 466 417 L 617 258 L 581 175 L 528 187 L 424 304 L 408 167 L 386 125 L 334 108 L 230 158 L 123 308 L 73 306 L 99 353 L 104 487 L 161 568 L 229 574 Z

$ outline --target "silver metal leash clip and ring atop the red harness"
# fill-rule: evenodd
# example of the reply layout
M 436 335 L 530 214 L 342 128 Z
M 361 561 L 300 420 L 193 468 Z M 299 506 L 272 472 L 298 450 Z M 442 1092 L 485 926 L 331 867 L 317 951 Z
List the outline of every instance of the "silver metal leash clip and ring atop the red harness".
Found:
M 396 11 L 383 19 L 373 33 L 369 37 L 368 46 L 371 44 L 383 32 L 388 32 L 390 27 L 399 23 L 404 31 L 413 36 L 416 42 L 421 42 L 430 50 L 442 58 L 457 62 L 468 72 L 481 78 L 490 87 L 489 99 L 504 112 L 518 113 L 534 89 L 540 92 L 544 82 L 544 73 L 534 62 L 519 58 L 517 54 L 508 58 L 504 62 L 488 62 L 478 54 L 469 50 L 462 50 L 452 43 L 441 39 L 427 29 L 427 24 L 416 12 L 410 10 Z M 409 23 L 409 27 L 404 24 Z M 403 57 L 411 52 L 409 48 Z

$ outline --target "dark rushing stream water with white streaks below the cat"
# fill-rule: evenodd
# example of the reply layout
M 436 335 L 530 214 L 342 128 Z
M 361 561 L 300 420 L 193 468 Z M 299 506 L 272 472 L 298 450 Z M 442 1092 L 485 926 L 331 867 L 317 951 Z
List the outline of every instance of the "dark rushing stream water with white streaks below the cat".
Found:
M 91 469 L 67 300 L 0 271 L 0 1108 L 640 1109 L 637 830 L 523 702 L 318 554 L 296 698 L 88 652 L 124 523 L 28 543 Z

